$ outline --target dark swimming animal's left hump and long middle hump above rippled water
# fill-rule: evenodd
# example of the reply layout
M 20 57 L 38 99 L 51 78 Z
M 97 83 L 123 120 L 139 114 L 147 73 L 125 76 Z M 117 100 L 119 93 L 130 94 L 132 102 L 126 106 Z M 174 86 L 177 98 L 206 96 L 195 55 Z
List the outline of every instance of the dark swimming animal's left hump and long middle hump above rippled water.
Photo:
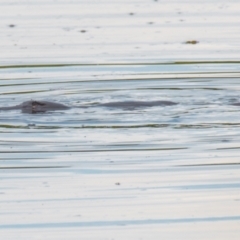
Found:
M 108 107 L 108 108 L 122 108 L 126 110 L 134 110 L 137 108 L 144 107 L 155 107 L 155 106 L 171 106 L 177 103 L 171 101 L 123 101 L 123 102 L 109 102 L 99 103 L 94 105 L 74 106 L 76 108 L 88 108 L 88 107 Z M 0 107 L 0 111 L 6 110 L 21 110 L 23 113 L 44 113 L 48 111 L 67 110 L 72 107 L 66 106 L 61 103 L 50 102 L 50 101 L 26 101 L 22 104 L 12 107 Z

